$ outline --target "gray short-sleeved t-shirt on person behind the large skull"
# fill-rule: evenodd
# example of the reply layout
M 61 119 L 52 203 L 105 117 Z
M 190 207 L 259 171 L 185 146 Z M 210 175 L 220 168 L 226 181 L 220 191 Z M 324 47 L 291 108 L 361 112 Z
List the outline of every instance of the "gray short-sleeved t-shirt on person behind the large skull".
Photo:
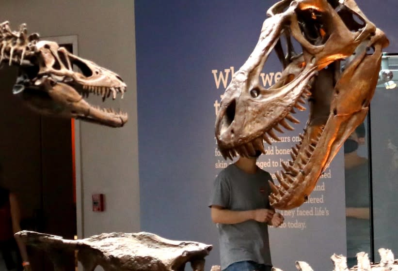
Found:
M 232 211 L 268 209 L 272 181 L 270 173 L 257 168 L 249 174 L 231 164 L 214 181 L 209 206 L 218 205 Z M 268 225 L 255 220 L 239 224 L 217 224 L 220 235 L 222 270 L 239 261 L 272 265 Z

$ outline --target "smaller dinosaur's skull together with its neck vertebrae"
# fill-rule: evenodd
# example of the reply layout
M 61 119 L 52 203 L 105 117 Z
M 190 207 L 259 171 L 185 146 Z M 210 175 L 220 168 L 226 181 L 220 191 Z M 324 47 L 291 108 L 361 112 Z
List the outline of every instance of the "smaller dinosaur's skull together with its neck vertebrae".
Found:
M 34 111 L 44 115 L 76 118 L 112 127 L 123 126 L 127 114 L 101 109 L 87 103 L 89 93 L 102 99 L 126 91 L 123 80 L 111 71 L 69 53 L 55 42 L 28 36 L 25 24 L 12 31 L 8 22 L 0 24 L 0 62 L 19 66 L 13 92 Z M 73 65 L 80 72 L 73 71 Z

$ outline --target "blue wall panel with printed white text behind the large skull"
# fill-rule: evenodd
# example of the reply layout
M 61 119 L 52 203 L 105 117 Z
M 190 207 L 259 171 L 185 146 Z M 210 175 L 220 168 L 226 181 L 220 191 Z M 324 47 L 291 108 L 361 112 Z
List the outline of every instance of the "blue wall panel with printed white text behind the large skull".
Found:
M 141 229 L 168 239 L 213 244 L 206 270 L 219 264 L 217 231 L 207 203 L 219 167 L 226 165 L 214 140 L 215 110 L 225 90 L 220 72 L 229 83 L 230 67 L 237 71 L 248 58 L 274 2 L 135 1 Z M 393 27 L 384 28 L 391 16 L 374 12 L 372 3 L 361 2 L 360 8 L 392 40 Z M 273 83 L 280 69 L 271 56 L 263 72 Z M 306 114 L 297 114 L 302 124 L 295 126 L 297 132 L 285 134 L 290 140 L 302 131 Z M 273 151 L 261 157 L 264 169 L 279 169 L 276 162 L 289 155 L 276 150 L 292 145 L 273 144 Z M 269 161 L 276 166 L 268 166 Z M 341 152 L 330 170 L 319 181 L 324 186 L 312 194 L 323 198 L 321 204 L 303 205 L 308 215 L 300 218 L 297 210 L 295 215 L 286 213 L 285 228 L 270 229 L 278 268 L 291 270 L 295 260 L 304 260 L 314 270 L 332 269 L 330 256 L 346 254 Z

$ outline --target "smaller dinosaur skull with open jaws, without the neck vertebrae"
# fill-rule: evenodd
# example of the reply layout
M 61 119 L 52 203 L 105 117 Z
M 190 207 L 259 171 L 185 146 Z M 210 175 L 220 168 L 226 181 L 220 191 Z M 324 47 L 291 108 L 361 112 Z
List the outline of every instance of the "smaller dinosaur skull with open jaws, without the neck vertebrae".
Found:
M 115 73 L 84 60 L 55 42 L 40 41 L 35 47 L 32 67 L 21 67 L 14 93 L 21 92 L 27 104 L 41 114 L 76 118 L 111 127 L 121 127 L 127 114 L 90 105 L 83 97 L 89 93 L 105 100 L 126 91 L 126 84 Z M 74 71 L 76 65 L 80 71 Z

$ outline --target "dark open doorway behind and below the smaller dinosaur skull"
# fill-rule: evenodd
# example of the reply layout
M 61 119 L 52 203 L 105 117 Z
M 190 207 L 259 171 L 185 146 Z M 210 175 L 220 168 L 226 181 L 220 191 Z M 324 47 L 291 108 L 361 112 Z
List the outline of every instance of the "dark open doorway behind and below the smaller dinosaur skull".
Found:
M 73 52 L 72 43 L 64 45 Z M 12 94 L 16 75 L 16 67 L 4 65 L 0 70 L 0 162 L 4 185 L 18 196 L 22 229 L 74 239 L 77 235 L 75 123 L 40 116 L 25 108 Z M 43 252 L 28 247 L 28 254 L 32 270 L 53 270 Z M 65 268 L 74 267 L 71 255 Z

